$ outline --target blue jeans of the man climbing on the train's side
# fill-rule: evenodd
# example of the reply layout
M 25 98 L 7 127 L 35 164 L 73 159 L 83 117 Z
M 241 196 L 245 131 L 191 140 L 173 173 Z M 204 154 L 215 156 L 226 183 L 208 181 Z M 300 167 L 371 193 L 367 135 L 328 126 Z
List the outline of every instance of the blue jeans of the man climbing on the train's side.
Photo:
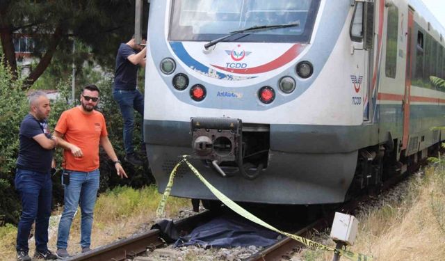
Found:
M 131 154 L 134 152 L 134 110 L 138 111 L 141 116 L 144 116 L 144 97 L 139 90 L 113 90 L 113 98 L 116 102 L 118 102 L 120 106 L 120 112 L 122 113 L 122 117 L 124 118 L 125 153 Z M 143 143 L 143 131 L 141 131 L 141 134 L 141 143 Z

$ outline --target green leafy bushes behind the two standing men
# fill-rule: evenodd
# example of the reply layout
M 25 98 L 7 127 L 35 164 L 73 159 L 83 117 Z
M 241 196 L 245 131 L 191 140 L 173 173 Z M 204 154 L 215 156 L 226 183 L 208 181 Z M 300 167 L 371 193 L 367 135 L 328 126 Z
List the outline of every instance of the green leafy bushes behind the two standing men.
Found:
M 0 61 L 1 62 L 1 61 Z M 91 71 L 90 73 L 89 70 Z M 86 77 L 78 79 L 81 82 L 88 82 L 88 79 L 95 79 L 101 90 L 101 102 L 99 103 L 99 111 L 104 113 L 106 125 L 108 129 L 108 138 L 113 144 L 116 154 L 120 159 L 124 158 L 124 148 L 122 141 L 122 115 L 118 104 L 113 100 L 111 94 L 111 78 L 97 77 L 97 72 L 92 68 L 86 68 L 83 72 Z M 98 80 L 99 79 L 99 80 Z M 58 83 L 40 83 L 40 86 L 54 86 L 51 89 L 57 89 L 60 97 L 56 101 L 51 102 L 51 113 L 49 114 L 49 127 L 54 129 L 60 114 L 66 109 L 79 104 L 79 96 L 81 86 L 76 88 L 75 101 L 76 104 L 69 104 L 71 97 L 70 79 L 59 80 Z M 21 203 L 14 189 L 15 162 L 19 152 L 19 127 L 26 113 L 29 112 L 28 100 L 26 93 L 22 90 L 22 81 L 14 81 L 12 74 L 7 68 L 0 65 L 0 226 L 4 223 L 17 224 Z M 134 130 L 135 144 L 140 139 L 142 118 L 136 113 L 136 127 Z M 136 149 L 139 149 L 136 146 Z M 62 150 L 56 150 L 56 164 L 60 169 L 62 162 Z M 123 161 L 123 160 L 122 160 Z M 106 153 L 100 150 L 100 173 L 101 181 L 99 192 L 112 189 L 120 185 L 128 185 L 130 187 L 139 188 L 152 182 L 152 175 L 147 166 L 133 167 L 130 164 L 123 163 L 124 170 L 129 176 L 128 179 L 121 180 L 115 173 L 114 164 L 108 159 Z M 63 203 L 63 187 L 60 184 L 61 171 L 52 177 L 53 180 L 53 198 L 54 203 Z

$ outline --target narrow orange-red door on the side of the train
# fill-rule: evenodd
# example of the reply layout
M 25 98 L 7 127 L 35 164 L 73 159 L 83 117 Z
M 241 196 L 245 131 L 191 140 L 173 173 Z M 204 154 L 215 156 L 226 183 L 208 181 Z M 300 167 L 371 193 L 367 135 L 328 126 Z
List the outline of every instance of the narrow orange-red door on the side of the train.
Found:
M 407 148 L 408 136 L 410 135 L 410 95 L 411 95 L 411 60 L 412 60 L 412 31 L 414 24 L 414 10 L 408 10 L 408 37 L 406 52 L 406 74 L 405 74 L 405 96 L 403 97 L 403 138 L 402 150 Z

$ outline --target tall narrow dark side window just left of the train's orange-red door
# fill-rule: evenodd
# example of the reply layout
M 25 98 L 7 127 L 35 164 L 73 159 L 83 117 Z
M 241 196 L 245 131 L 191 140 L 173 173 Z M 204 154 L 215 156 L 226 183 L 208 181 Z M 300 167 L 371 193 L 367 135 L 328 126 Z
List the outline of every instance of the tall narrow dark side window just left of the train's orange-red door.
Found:
M 385 72 L 387 77 L 396 78 L 397 70 L 397 36 L 398 36 L 398 8 L 391 6 L 388 8 L 387 24 L 387 55 Z

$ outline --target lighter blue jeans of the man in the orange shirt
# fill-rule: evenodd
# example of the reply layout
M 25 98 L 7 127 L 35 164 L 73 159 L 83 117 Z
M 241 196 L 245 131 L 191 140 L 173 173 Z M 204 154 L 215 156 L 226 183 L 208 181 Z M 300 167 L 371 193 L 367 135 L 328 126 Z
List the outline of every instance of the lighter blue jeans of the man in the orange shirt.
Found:
M 81 206 L 81 247 L 91 244 L 92 215 L 95 209 L 97 189 L 99 189 L 99 169 L 91 172 L 64 171 L 70 173 L 70 184 L 65 188 L 64 206 L 58 223 L 57 248 L 66 249 L 72 219 L 77 206 Z M 63 175 L 62 175 L 63 184 Z

